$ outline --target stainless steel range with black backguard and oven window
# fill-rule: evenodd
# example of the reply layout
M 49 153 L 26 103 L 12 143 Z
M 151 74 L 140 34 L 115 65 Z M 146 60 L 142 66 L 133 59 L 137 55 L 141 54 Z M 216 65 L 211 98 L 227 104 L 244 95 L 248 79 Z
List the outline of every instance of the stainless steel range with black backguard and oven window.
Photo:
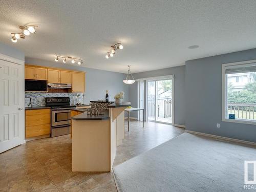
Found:
M 47 97 L 46 106 L 51 106 L 51 137 L 70 134 L 70 105 L 69 97 Z

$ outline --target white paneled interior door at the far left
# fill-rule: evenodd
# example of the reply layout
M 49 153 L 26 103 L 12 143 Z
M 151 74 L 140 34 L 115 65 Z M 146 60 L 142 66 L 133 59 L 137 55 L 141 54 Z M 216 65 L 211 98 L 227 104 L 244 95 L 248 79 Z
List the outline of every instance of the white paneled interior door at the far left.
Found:
M 0 153 L 23 143 L 24 66 L 0 60 Z

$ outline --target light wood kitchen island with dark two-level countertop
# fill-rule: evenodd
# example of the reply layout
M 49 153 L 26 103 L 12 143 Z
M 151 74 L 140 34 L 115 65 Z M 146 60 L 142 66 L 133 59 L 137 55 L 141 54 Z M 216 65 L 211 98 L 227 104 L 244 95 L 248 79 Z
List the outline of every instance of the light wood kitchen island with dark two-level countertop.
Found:
M 72 117 L 72 171 L 110 172 L 117 145 L 124 138 L 124 110 L 130 102 L 112 103 L 103 115 Z M 82 110 L 81 110 L 82 111 Z

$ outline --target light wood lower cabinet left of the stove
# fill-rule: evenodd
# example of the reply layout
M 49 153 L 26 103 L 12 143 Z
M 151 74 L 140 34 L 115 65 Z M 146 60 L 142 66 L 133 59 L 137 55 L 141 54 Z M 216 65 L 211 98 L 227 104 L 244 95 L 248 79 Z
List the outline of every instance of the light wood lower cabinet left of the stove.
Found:
M 26 138 L 51 134 L 51 109 L 26 110 Z

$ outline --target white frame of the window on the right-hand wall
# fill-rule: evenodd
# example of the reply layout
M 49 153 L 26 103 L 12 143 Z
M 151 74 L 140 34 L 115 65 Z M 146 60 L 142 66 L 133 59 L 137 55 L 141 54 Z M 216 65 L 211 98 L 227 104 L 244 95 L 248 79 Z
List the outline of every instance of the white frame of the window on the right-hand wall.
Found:
M 227 118 L 227 78 L 225 70 L 226 68 L 236 68 L 238 65 L 250 65 L 256 63 L 255 60 L 247 60 L 241 62 L 223 63 L 222 64 L 222 121 L 232 123 L 244 123 L 244 124 L 256 124 L 256 120 L 249 119 L 228 119 Z

